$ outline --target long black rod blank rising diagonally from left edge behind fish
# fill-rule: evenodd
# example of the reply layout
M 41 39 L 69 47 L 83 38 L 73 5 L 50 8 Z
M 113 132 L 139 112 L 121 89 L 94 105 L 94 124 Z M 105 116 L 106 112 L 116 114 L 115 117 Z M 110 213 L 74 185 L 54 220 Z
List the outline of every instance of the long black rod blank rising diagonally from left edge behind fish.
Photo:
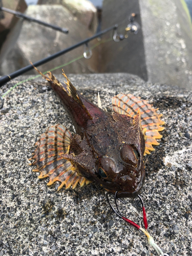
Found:
M 81 46 L 81 45 L 88 44 L 89 41 L 91 41 L 91 40 L 93 40 L 93 39 L 95 39 L 95 38 L 101 36 L 102 34 L 105 34 L 106 32 L 108 32 L 108 31 L 110 31 L 110 30 L 113 30 L 113 29 L 115 29 L 115 28 L 117 28 L 117 25 L 112 26 L 112 27 L 110 27 L 110 28 L 108 28 L 108 29 L 105 29 L 105 30 L 103 30 L 103 31 L 101 31 L 101 32 L 99 32 L 99 33 L 96 33 L 95 35 L 93 35 L 93 36 L 91 36 L 91 37 L 89 37 L 89 38 L 87 38 L 87 39 L 85 39 L 85 40 L 83 40 L 83 41 L 80 41 L 80 42 L 78 42 L 77 44 L 75 44 L 75 45 L 73 45 L 73 46 L 70 46 L 70 47 L 68 47 L 68 48 L 66 48 L 66 49 L 63 49 L 63 50 L 61 50 L 61 51 L 59 51 L 59 52 L 57 52 L 57 53 L 55 53 L 55 54 L 52 54 L 52 55 L 50 55 L 50 56 L 47 57 L 47 58 L 41 59 L 41 60 L 39 60 L 39 61 L 36 61 L 36 62 L 33 63 L 33 65 L 28 65 L 28 66 L 26 66 L 26 67 L 24 67 L 24 68 L 22 68 L 22 69 L 19 69 L 19 70 L 15 71 L 15 72 L 13 72 L 13 73 L 11 73 L 11 74 L 9 74 L 9 75 L 6 75 L 6 76 L 1 77 L 1 78 L 0 78 L 0 88 L 1 88 L 2 86 L 4 86 L 4 84 L 6 84 L 8 81 L 12 80 L 13 78 L 15 78 L 15 77 L 17 77 L 17 76 L 20 76 L 20 75 L 22 75 L 22 74 L 24 74 L 24 73 L 26 73 L 26 72 L 28 72 L 28 71 L 34 69 L 33 66 L 35 66 L 35 67 L 41 66 L 41 65 L 47 63 L 48 61 L 50 61 L 50 60 L 52 60 L 52 59 L 55 59 L 55 58 L 61 56 L 62 54 L 65 54 L 65 53 L 67 53 L 67 52 L 70 52 L 70 51 L 72 51 L 73 49 L 75 49 L 75 48 L 77 48 L 77 47 L 79 47 L 79 46 Z

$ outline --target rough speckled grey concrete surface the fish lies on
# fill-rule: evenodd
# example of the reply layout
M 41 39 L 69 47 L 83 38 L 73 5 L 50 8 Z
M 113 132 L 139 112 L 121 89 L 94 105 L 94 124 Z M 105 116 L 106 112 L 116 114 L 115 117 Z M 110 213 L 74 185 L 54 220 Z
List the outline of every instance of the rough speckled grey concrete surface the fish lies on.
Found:
M 11 81 L 0 95 L 27 78 Z M 60 75 L 57 78 L 63 80 Z M 159 108 L 165 130 L 160 145 L 145 157 L 142 198 L 155 242 L 168 255 L 190 255 L 191 136 L 187 139 L 178 133 L 191 134 L 192 92 L 146 83 L 129 74 L 69 78 L 94 103 L 100 92 L 108 111 L 112 111 L 112 97 L 120 92 L 141 96 Z M 4 99 L 0 112 L 0 255 L 157 255 L 140 232 L 113 214 L 99 185 L 63 188 L 57 193 L 58 183 L 48 187 L 48 178 L 39 180 L 32 172 L 28 158 L 48 126 L 60 122 L 74 135 L 70 117 L 47 82 L 41 78 L 25 81 Z M 123 215 L 143 225 L 139 200 L 124 201 Z

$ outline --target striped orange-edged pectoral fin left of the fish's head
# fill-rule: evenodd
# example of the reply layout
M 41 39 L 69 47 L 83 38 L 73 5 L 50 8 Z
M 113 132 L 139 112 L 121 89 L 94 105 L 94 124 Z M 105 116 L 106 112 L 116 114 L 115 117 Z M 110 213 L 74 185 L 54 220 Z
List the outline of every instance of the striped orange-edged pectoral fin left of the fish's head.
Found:
M 74 189 L 78 182 L 80 186 L 85 183 L 89 184 L 86 178 L 77 174 L 70 161 L 60 156 L 61 153 L 69 152 L 71 140 L 72 136 L 66 127 L 61 124 L 52 125 L 35 143 L 37 147 L 31 158 L 34 160 L 32 164 L 37 166 L 33 171 L 40 172 L 38 178 L 50 177 L 48 185 L 53 184 L 55 181 L 60 181 L 61 184 L 58 190 L 63 185 L 66 185 L 66 189 L 71 186 Z

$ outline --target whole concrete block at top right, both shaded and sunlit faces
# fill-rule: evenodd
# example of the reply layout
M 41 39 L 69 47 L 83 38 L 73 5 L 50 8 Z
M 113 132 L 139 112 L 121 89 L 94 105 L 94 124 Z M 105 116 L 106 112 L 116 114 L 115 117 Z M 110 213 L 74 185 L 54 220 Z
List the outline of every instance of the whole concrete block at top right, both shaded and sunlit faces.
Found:
M 102 71 L 121 70 L 151 82 L 192 88 L 192 25 L 185 2 L 104 0 L 103 28 L 123 20 L 122 32 L 131 12 L 141 29 L 118 45 L 108 42 L 103 47 Z

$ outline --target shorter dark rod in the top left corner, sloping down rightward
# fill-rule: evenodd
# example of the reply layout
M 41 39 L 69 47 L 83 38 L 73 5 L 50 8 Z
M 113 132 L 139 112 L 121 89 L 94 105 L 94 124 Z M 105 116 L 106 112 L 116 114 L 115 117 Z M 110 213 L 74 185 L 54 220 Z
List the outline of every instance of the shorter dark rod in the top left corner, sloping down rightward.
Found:
M 58 26 L 56 26 L 56 25 L 52 25 L 52 24 L 49 24 L 49 23 L 46 23 L 46 22 L 42 22 L 41 20 L 38 20 L 38 19 L 35 19 L 35 18 L 32 18 L 32 17 L 29 17 L 29 16 L 23 14 L 22 12 L 13 11 L 13 10 L 10 10 L 10 9 L 8 9 L 8 8 L 5 8 L 5 7 L 0 7 L 0 12 L 1 12 L 1 11 L 11 13 L 11 14 L 15 15 L 17 18 L 26 19 L 26 20 L 29 20 L 30 22 L 38 23 L 38 24 L 40 24 L 40 25 L 43 25 L 43 26 L 45 26 L 45 27 L 52 28 L 52 29 L 54 29 L 54 30 L 60 31 L 60 32 L 65 33 L 65 34 L 68 34 L 68 33 L 69 33 L 69 30 L 66 29 L 66 28 L 60 28 L 60 27 L 58 27 Z

